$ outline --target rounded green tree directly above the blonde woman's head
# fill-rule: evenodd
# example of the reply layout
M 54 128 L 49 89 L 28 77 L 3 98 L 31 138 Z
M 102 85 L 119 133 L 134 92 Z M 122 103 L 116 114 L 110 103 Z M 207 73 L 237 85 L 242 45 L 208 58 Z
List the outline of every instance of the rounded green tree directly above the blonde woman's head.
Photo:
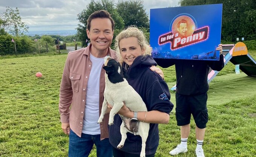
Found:
M 118 0 L 117 12 L 124 19 L 124 27 L 136 25 L 149 28 L 149 16 L 143 0 Z

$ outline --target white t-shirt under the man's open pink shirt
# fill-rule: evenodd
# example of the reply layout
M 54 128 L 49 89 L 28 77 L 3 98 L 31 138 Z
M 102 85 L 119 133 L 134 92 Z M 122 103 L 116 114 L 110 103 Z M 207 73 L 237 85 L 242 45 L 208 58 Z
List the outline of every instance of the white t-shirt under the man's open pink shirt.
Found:
M 99 97 L 100 97 L 100 72 L 104 64 L 103 58 L 96 58 L 90 54 L 92 69 L 87 83 L 86 105 L 84 109 L 82 133 L 89 135 L 100 134 L 99 119 Z

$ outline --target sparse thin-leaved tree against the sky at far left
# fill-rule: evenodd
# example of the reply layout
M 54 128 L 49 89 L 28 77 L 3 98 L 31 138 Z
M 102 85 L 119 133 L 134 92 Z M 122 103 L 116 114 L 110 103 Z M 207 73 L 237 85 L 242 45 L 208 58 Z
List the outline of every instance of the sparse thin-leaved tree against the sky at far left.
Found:
M 21 21 L 20 12 L 16 7 L 6 7 L 6 11 L 0 14 L 1 19 L 5 22 L 3 29 L 13 36 L 21 36 L 28 32 L 28 25 Z

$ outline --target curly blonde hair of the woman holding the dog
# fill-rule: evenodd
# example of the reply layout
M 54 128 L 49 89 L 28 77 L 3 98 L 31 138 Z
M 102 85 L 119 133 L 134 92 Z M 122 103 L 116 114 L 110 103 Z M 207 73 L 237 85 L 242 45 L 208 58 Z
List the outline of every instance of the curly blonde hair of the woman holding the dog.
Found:
M 138 44 L 141 46 L 141 49 L 145 50 L 143 55 L 151 55 L 152 48 L 149 46 L 143 31 L 139 30 L 134 26 L 127 27 L 125 30 L 121 31 L 115 38 L 115 50 L 117 51 L 118 61 L 122 64 L 123 58 L 121 57 L 119 42 L 121 39 L 128 37 L 136 37 L 138 39 Z

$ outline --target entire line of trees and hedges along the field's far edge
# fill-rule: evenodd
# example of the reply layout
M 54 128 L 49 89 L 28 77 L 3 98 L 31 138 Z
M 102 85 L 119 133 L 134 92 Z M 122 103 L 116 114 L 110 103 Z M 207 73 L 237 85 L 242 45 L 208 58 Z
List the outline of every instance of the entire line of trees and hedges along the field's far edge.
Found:
M 244 37 L 248 49 L 256 49 L 256 3 L 255 0 L 179 0 L 180 6 L 217 4 L 222 3 L 222 43 L 235 43 L 236 38 Z M 10 54 L 11 40 L 27 47 L 35 44 L 34 39 L 54 45 L 54 39 L 70 42 L 73 39 L 81 41 L 86 46 L 89 41 L 86 34 L 87 19 L 97 10 L 107 10 L 115 21 L 114 37 L 124 28 L 135 25 L 141 29 L 149 41 L 149 15 L 144 7 L 143 0 L 91 0 L 77 15 L 77 34 L 74 36 L 26 36 L 29 27 L 21 20 L 18 8 L 6 7 L 0 13 L 0 55 Z M 38 44 L 38 43 L 37 43 Z M 113 47 L 114 42 L 112 42 Z M 28 51 L 20 51 L 28 53 Z

